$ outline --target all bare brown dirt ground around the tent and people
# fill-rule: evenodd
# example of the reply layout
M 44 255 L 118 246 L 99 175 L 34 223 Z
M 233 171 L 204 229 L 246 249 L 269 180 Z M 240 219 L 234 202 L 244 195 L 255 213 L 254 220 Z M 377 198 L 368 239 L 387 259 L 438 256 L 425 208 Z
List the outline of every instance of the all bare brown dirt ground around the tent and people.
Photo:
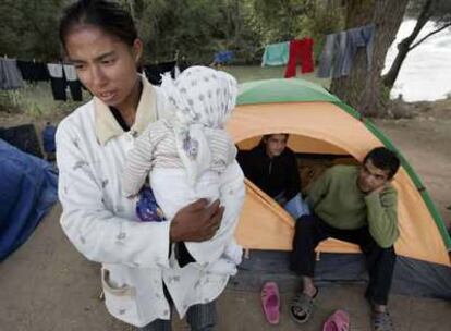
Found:
M 376 120 L 422 177 L 447 224 L 451 223 L 451 101 L 409 106 L 413 119 Z M 0 113 L 0 126 L 34 122 L 38 130 L 47 120 Z M 56 205 L 31 238 L 0 263 L 0 330 L 134 330 L 113 319 L 99 299 L 98 265 L 84 259 L 64 237 Z M 337 308 L 351 312 L 351 330 L 369 329 L 369 309 L 362 285 L 324 287 L 315 315 L 305 326 L 289 317 L 293 293 L 282 293 L 281 323 L 265 322 L 258 292 L 227 290 L 218 301 L 218 330 L 321 330 Z M 392 295 L 391 315 L 397 330 L 451 330 L 451 303 Z M 187 330 L 176 321 L 174 330 Z

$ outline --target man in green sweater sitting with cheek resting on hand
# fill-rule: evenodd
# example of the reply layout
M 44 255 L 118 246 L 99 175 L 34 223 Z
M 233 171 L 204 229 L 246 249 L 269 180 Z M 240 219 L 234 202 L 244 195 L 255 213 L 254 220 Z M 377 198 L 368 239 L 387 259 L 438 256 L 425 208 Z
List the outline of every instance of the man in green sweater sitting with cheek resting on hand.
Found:
M 374 330 L 391 330 L 387 301 L 394 269 L 393 244 L 399 236 L 397 191 L 390 184 L 400 166 L 394 152 L 378 147 L 363 164 L 334 166 L 308 191 L 313 211 L 296 221 L 291 267 L 303 280 L 291 314 L 306 322 L 318 293 L 313 282 L 315 247 L 334 237 L 358 244 L 367 260 L 369 284 L 365 293 L 373 308 Z

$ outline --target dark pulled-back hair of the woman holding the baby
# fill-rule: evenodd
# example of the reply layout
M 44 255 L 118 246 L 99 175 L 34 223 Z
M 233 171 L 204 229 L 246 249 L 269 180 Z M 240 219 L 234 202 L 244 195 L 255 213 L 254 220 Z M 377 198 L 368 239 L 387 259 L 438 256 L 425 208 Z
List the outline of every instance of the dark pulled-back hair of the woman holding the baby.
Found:
M 113 1 L 78 0 L 66 7 L 60 21 L 60 40 L 64 48 L 65 38 L 76 25 L 96 26 L 129 46 L 137 38 L 132 15 Z

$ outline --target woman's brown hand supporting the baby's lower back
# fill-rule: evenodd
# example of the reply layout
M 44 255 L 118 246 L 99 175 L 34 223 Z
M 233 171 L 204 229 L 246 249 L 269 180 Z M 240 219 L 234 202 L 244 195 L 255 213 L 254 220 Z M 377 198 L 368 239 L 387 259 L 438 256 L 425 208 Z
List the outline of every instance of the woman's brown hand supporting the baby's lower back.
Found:
M 221 225 L 224 208 L 215 200 L 198 199 L 178 211 L 169 231 L 171 242 L 204 242 L 211 238 Z

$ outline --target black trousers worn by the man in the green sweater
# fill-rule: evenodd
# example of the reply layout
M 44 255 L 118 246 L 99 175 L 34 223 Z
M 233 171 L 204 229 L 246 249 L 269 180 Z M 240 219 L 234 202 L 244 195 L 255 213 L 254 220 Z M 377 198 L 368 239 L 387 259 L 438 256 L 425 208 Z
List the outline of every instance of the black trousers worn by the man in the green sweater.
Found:
M 387 305 L 397 259 L 393 247 L 382 248 L 373 238 L 367 226 L 340 230 L 330 226 L 316 214 L 303 216 L 296 221 L 291 255 L 291 268 L 300 275 L 314 277 L 315 248 L 319 242 L 334 237 L 359 245 L 366 257 L 369 283 L 365 296 L 378 305 Z

